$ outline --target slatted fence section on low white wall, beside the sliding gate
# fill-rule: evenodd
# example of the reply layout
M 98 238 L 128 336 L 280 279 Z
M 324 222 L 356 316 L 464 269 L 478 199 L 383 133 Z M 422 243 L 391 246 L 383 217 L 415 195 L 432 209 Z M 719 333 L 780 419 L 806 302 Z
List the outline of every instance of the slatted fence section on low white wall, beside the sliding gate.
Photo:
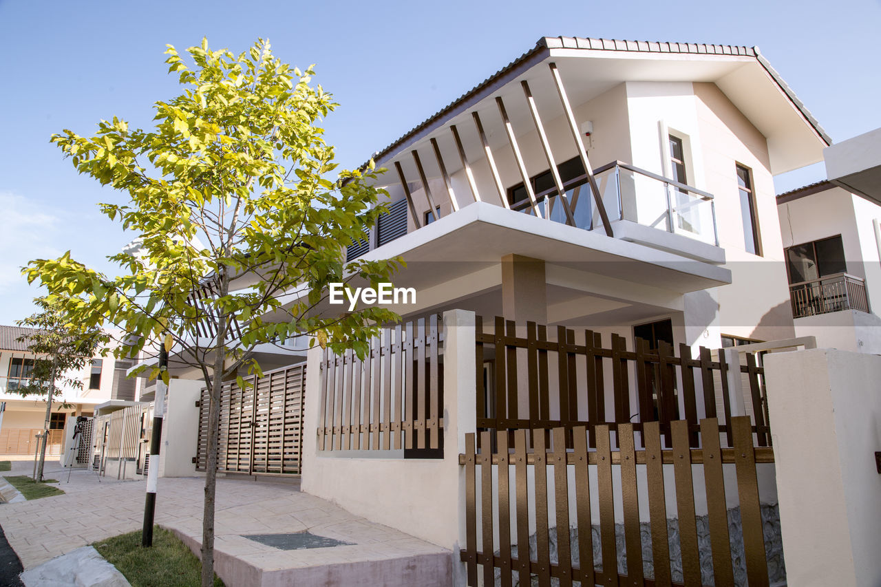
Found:
M 325 352 L 318 450 L 441 449 L 443 341 L 433 314 L 383 328 L 364 360 Z

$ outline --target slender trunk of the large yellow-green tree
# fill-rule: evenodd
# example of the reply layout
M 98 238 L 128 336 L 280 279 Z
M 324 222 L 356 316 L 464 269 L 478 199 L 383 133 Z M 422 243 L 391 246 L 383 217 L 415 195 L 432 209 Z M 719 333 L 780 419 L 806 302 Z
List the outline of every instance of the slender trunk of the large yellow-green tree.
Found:
M 220 291 L 218 296 L 226 295 L 229 279 L 226 271 L 220 271 Z M 214 584 L 214 502 L 217 487 L 218 468 L 218 428 L 220 427 L 220 397 L 223 390 L 224 344 L 226 341 L 226 314 L 218 312 L 217 351 L 214 357 L 214 372 L 211 376 L 210 403 L 208 405 L 208 446 L 205 463 L 205 501 L 202 512 L 202 587 Z

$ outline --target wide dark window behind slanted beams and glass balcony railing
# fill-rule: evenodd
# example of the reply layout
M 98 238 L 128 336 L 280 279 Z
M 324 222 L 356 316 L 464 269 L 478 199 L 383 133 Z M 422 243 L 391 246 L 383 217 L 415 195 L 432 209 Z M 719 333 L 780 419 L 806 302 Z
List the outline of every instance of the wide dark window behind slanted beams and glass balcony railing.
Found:
M 574 157 L 573 159 L 563 161 L 557 166 L 557 171 L 559 172 L 560 181 L 563 182 L 563 189 L 566 189 L 566 199 L 568 199 L 570 205 L 574 203 L 572 214 L 575 226 L 589 230 L 592 227 L 591 218 L 593 211 L 591 210 L 590 189 L 584 188 L 584 184 L 588 182 L 588 175 L 581 164 L 581 157 Z M 529 184 L 536 194 L 538 210 L 541 212 L 542 217 L 544 217 L 544 202 L 550 198 L 551 219 L 565 224 L 566 212 L 563 210 L 563 206 L 557 205 L 556 198 L 554 198 L 557 195 L 557 186 L 554 184 L 551 170 L 548 169 L 543 173 L 533 175 L 529 178 Z M 582 188 L 584 189 L 583 194 L 580 193 Z M 511 205 L 512 210 L 526 212 L 527 214 L 534 213 L 532 211 L 532 204 L 529 203 L 529 194 L 523 183 L 518 183 L 513 188 L 507 190 L 507 201 Z

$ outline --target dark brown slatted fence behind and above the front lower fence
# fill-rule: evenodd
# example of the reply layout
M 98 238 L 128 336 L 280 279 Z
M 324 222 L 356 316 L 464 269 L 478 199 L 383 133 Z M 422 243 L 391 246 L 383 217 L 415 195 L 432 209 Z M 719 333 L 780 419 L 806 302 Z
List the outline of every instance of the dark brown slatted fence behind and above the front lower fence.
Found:
M 614 430 L 633 424 L 641 432 L 644 422 L 658 421 L 663 445 L 669 449 L 672 421 L 687 421 L 689 444 L 697 447 L 699 420 L 714 418 L 722 424 L 726 446 L 731 446 L 729 370 L 736 369 L 744 379 L 744 390 L 748 389 L 746 412 L 752 413 L 757 443 L 770 445 L 765 390 L 760 383 L 764 368 L 757 366 L 754 354 L 746 354 L 745 365 L 729 365 L 724 353 L 705 347 L 693 359 L 691 347 L 685 344 L 679 345 L 676 356 L 673 346 L 665 342 L 652 350 L 638 338 L 635 350 L 628 351 L 626 339 L 617 334 L 611 335 L 608 348 L 603 347 L 598 332 L 584 331 L 581 340 L 583 344 L 575 344 L 575 331 L 564 326 L 551 339 L 546 326 L 531 322 L 526 324 L 525 337 L 518 336 L 515 323 L 501 317 L 495 319 L 494 331 L 485 332 L 478 316 L 478 430 L 544 429 L 547 442 L 550 429 L 564 427 L 571 448 L 572 429 L 585 426 L 589 447 L 595 448 L 597 425 Z M 635 405 L 631 405 L 632 378 Z M 641 446 L 641 435 L 638 442 Z

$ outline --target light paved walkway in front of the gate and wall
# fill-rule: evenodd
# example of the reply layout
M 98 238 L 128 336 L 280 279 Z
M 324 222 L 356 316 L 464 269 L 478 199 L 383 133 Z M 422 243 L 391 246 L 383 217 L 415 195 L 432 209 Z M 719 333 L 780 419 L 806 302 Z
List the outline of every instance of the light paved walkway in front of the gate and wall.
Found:
M 32 468 L 33 464 L 15 462 L 11 472 L 2 474 L 29 474 Z M 44 474 L 60 481 L 64 495 L 0 505 L 0 526 L 24 568 L 141 529 L 143 480 L 117 481 L 75 469 L 67 483 L 68 471 L 48 464 Z M 204 479 L 159 479 L 156 523 L 195 550 L 201 544 L 203 494 Z M 215 520 L 216 569 L 230 586 L 293 580 L 302 585 L 448 584 L 450 580 L 450 551 L 302 494 L 289 482 L 218 479 Z M 300 531 L 354 544 L 283 551 L 242 536 Z M 355 578 L 359 580 L 352 583 Z

